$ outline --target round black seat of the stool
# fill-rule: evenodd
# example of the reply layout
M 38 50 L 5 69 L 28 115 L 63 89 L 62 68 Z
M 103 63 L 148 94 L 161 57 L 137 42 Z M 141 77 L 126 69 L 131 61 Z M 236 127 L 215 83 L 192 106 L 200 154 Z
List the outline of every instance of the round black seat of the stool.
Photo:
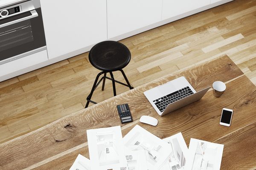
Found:
M 130 60 L 129 49 L 116 41 L 99 42 L 89 52 L 89 61 L 93 67 L 106 72 L 121 70 Z

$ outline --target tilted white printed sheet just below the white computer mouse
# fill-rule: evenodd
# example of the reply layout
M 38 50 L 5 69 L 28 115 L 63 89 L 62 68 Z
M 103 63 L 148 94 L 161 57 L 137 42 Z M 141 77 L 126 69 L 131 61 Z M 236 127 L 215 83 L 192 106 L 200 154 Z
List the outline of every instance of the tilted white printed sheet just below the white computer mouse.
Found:
M 170 145 L 152 133 L 136 125 L 123 138 L 125 150 L 144 150 L 148 170 L 158 170 L 169 157 Z

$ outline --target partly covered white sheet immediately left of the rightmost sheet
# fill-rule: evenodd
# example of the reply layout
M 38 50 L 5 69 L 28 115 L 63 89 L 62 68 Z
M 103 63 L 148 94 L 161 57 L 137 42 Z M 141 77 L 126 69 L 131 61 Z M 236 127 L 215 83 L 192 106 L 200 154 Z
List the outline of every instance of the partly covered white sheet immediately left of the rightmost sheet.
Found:
M 181 133 L 163 139 L 172 148 L 171 155 L 160 170 L 186 170 L 189 150 Z

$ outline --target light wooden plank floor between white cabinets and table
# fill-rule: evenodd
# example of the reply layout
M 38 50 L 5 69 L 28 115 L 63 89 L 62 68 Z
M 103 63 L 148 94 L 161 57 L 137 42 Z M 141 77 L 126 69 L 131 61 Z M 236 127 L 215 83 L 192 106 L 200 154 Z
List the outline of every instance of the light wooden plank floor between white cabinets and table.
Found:
M 256 0 L 235 0 L 120 42 L 132 54 L 124 71 L 134 87 L 223 54 L 256 84 Z M 0 82 L 0 143 L 83 109 L 98 73 L 84 53 Z M 114 76 L 124 81 L 119 72 Z M 111 96 L 106 80 L 92 99 Z

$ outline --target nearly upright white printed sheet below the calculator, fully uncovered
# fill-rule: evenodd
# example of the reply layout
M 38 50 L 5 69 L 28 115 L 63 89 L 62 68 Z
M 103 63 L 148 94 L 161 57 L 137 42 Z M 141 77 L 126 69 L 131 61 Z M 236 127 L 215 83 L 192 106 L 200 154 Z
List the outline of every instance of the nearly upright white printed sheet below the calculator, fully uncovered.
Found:
M 87 130 L 92 170 L 126 167 L 120 126 Z

